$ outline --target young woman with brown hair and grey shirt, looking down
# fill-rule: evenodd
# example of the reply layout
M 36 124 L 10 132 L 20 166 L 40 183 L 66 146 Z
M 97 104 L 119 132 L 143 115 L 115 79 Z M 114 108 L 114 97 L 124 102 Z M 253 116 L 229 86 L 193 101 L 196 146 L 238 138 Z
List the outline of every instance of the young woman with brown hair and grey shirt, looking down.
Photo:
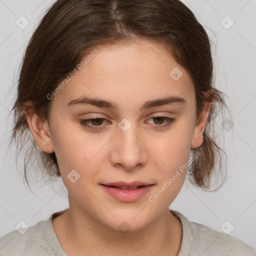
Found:
M 0 255 L 256 254 L 168 209 L 186 175 L 209 188 L 217 104 L 208 36 L 179 0 L 57 0 L 26 48 L 13 138 L 26 180 L 36 159 L 69 208 L 2 236 Z

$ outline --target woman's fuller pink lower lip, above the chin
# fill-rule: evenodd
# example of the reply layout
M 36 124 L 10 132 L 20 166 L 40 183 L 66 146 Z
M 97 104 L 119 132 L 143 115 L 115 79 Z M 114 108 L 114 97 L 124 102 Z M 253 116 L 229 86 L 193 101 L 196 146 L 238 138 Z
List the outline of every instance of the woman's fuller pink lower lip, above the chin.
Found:
M 100 184 L 105 191 L 114 198 L 123 202 L 133 202 L 147 193 L 153 185 L 141 186 L 136 189 L 121 189 Z

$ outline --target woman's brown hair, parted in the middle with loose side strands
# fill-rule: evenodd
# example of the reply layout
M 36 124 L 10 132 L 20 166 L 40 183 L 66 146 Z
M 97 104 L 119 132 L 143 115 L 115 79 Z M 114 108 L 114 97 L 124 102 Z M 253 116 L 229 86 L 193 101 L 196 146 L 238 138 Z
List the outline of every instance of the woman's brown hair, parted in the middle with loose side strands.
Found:
M 207 33 L 179 0 L 57 0 L 47 10 L 25 50 L 12 108 L 11 140 L 17 138 L 19 152 L 21 149 L 25 151 L 24 177 L 27 184 L 29 163 L 36 163 L 35 167 L 41 169 L 46 179 L 58 178 L 60 173 L 55 153 L 40 150 L 31 136 L 23 111 L 24 102 L 32 100 L 37 114 L 48 120 L 51 100 L 47 95 L 70 74 L 82 57 L 97 46 L 136 39 L 159 42 L 188 71 L 195 90 L 197 118 L 203 102 L 212 102 L 203 143 L 191 149 L 193 153 L 200 152 L 200 157 L 193 160 L 188 169 L 194 185 L 209 188 L 212 172 L 216 162 L 221 163 L 223 152 L 209 132 L 217 105 L 223 107 L 225 102 L 223 93 L 213 87 Z M 203 92 L 209 90 L 210 98 L 206 98 Z

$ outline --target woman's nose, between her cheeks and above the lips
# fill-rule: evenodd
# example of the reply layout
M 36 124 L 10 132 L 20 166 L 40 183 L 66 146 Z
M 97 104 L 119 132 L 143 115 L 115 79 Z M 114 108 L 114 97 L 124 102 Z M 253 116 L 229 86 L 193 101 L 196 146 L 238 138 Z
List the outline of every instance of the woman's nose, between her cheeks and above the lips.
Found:
M 118 128 L 113 139 L 110 153 L 110 161 L 113 166 L 133 170 L 146 164 L 147 148 L 135 125 L 131 125 L 126 131 Z

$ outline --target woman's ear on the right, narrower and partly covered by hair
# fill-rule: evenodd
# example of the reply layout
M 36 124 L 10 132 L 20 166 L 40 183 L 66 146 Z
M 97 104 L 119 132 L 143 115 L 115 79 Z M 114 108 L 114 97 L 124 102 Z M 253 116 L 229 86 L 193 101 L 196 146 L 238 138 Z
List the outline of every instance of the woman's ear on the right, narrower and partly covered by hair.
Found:
M 207 92 L 205 92 L 207 93 Z M 203 109 L 198 117 L 198 120 L 194 127 L 194 132 L 191 140 L 191 148 L 199 147 L 203 142 L 203 132 L 206 127 L 207 117 L 210 111 L 211 102 L 204 101 Z

